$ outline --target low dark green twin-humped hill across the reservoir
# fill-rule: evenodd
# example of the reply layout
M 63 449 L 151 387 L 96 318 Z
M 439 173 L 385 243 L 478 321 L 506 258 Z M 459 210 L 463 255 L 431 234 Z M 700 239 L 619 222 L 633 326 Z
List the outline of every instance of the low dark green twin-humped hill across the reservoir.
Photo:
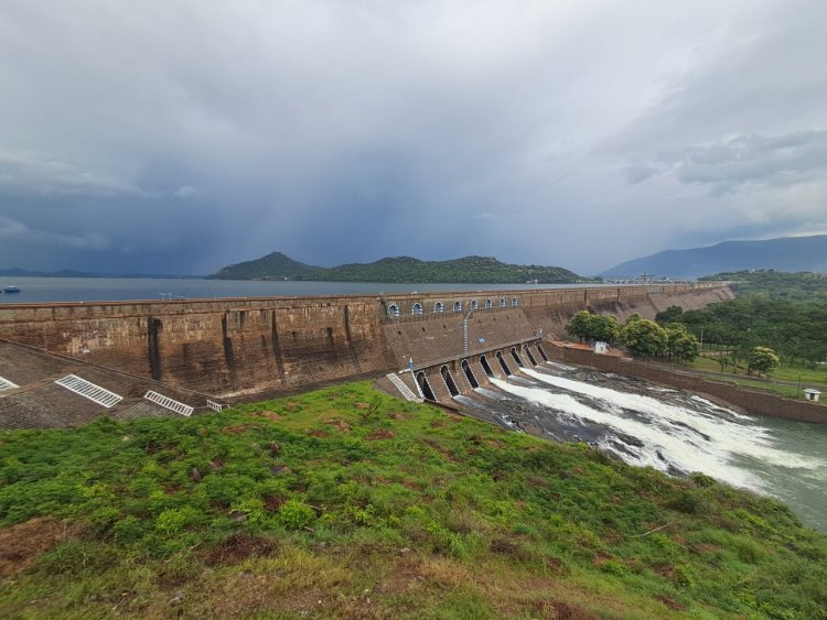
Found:
M 420 261 L 410 257 L 382 259 L 333 268 L 312 268 L 279 252 L 257 261 L 222 269 L 211 278 L 235 280 L 312 280 L 315 282 L 472 282 L 514 284 L 537 281 L 568 284 L 581 280 L 559 267 L 506 264 L 491 257 L 465 257 L 449 261 Z

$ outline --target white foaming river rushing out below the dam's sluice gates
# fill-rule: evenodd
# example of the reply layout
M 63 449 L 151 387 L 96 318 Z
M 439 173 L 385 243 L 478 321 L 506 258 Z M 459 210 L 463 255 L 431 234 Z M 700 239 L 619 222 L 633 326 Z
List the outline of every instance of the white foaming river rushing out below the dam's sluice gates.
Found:
M 786 502 L 827 532 L 827 425 L 744 415 L 700 396 L 548 362 L 460 404 L 516 431 L 586 442 L 672 475 L 702 471 Z

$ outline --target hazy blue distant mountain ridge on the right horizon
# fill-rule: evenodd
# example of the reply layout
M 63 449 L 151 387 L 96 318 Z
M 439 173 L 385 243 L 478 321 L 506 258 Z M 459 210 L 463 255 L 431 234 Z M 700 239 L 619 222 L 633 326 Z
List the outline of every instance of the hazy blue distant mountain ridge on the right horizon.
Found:
M 708 248 L 666 250 L 621 263 L 603 278 L 655 276 L 695 279 L 710 273 L 774 269 L 827 272 L 827 235 L 765 241 L 724 241 Z

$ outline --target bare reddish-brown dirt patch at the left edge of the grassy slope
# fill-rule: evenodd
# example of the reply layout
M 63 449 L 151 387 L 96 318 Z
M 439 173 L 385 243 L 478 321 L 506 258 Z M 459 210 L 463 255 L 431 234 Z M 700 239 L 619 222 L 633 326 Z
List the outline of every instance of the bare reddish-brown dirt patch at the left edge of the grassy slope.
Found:
M 76 526 L 51 516 L 36 516 L 0 530 L 0 576 L 8 577 L 24 570 L 40 554 L 76 532 Z

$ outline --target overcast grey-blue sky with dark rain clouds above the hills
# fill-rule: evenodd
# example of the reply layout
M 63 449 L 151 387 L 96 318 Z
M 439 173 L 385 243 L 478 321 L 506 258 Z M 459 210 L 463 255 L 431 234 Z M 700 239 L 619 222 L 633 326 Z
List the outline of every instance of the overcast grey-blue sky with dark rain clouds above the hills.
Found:
M 824 0 L 4 0 L 0 268 L 827 232 Z

